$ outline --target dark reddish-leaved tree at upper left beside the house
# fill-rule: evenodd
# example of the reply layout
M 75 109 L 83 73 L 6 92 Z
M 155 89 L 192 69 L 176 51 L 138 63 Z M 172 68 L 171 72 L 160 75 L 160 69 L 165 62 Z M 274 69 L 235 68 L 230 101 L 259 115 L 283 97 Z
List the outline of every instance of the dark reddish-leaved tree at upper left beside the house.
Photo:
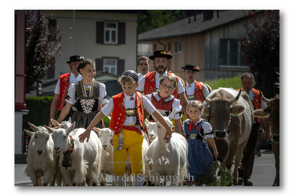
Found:
M 62 35 L 58 26 L 49 26 L 49 18 L 44 11 L 27 10 L 25 93 L 36 90 L 35 82 L 40 82 L 55 66 L 62 47 Z

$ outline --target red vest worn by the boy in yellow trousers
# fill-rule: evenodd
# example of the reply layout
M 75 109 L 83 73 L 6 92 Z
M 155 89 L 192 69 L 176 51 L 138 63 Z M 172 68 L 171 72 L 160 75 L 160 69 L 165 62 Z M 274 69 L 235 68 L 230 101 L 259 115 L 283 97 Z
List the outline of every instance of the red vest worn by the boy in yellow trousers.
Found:
M 113 111 L 111 113 L 111 121 L 109 128 L 118 134 L 122 130 L 123 123 L 126 118 L 124 102 L 124 94 L 112 96 L 113 99 Z M 143 100 L 141 95 L 136 91 L 136 106 L 137 106 L 137 117 L 139 118 L 140 126 L 143 126 Z

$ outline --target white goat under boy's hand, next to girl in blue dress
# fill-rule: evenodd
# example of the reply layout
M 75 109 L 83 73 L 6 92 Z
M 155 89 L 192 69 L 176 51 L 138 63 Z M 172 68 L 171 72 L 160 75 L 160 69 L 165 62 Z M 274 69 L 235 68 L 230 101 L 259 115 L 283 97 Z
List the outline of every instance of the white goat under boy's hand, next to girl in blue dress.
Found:
M 171 127 L 174 113 L 175 110 L 169 117 L 164 117 Z M 182 186 L 184 178 L 188 176 L 188 143 L 178 133 L 172 133 L 172 138 L 166 142 L 165 133 L 164 126 L 157 122 L 157 138 L 150 144 L 146 154 L 151 182 L 155 183 L 155 186 L 160 186 L 160 176 L 164 176 L 166 180 L 171 179 L 171 186 Z

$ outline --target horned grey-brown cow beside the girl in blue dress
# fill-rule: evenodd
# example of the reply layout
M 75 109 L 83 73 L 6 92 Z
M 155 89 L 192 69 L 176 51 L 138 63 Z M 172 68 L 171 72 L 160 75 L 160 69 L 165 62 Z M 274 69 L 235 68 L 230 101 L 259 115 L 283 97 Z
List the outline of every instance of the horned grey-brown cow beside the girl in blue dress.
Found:
M 229 147 L 222 167 L 231 169 L 233 160 L 235 166 L 239 166 L 243 151 L 250 135 L 253 123 L 253 106 L 249 97 L 243 91 L 232 88 L 219 88 L 213 90 L 204 99 L 204 117 L 210 116 L 209 123 L 212 126 L 213 136 L 217 140 L 228 139 Z M 241 95 L 241 96 L 240 96 Z M 225 143 L 216 144 L 223 145 Z M 217 146 L 219 149 L 225 147 Z M 225 153 L 224 153 L 225 154 Z M 238 167 L 234 168 L 234 185 L 238 184 Z

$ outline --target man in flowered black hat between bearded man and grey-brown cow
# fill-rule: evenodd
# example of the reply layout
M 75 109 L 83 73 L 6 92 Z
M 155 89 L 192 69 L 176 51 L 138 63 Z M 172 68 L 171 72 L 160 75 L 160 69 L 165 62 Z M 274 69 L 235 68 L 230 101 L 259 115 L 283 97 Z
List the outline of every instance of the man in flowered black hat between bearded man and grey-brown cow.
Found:
M 188 101 L 200 100 L 203 103 L 203 98 L 201 96 L 201 83 L 196 81 L 197 73 L 200 72 L 200 69 L 197 66 L 192 64 L 187 64 L 184 69 L 184 76 L 186 78 L 185 82 L 185 92 L 188 98 Z M 204 85 L 205 96 L 209 94 L 208 88 Z

